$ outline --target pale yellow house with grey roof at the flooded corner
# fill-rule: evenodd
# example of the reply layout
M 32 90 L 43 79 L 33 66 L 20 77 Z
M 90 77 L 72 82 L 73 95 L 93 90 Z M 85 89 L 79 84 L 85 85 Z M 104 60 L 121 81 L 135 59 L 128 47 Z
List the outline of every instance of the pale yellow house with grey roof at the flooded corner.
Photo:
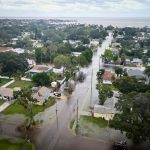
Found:
M 104 118 L 105 120 L 112 120 L 116 111 L 112 108 L 108 108 L 102 105 L 94 105 L 94 117 L 96 118 Z

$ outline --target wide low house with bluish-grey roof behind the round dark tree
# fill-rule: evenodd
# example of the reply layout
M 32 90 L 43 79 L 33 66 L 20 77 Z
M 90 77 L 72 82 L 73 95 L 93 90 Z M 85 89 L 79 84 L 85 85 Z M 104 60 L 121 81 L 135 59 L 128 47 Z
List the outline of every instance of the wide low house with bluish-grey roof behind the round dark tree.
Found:
M 52 69 L 53 69 L 52 66 L 35 65 L 32 69 L 29 70 L 29 73 L 31 75 L 34 75 L 36 73 L 41 73 L 41 72 L 51 72 Z

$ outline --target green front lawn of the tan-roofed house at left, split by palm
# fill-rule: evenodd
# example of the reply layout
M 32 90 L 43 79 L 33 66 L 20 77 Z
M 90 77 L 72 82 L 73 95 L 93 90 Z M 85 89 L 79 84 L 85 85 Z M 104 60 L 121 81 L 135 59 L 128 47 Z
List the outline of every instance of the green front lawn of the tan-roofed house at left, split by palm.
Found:
M 55 104 L 55 100 L 51 99 L 48 100 L 44 106 L 38 106 L 34 105 L 33 106 L 33 115 L 36 115 L 39 112 L 43 112 L 46 108 L 52 106 Z M 24 114 L 25 116 L 29 116 L 29 112 L 27 109 L 25 109 L 17 100 L 15 103 L 7 107 L 3 112 L 3 114 L 8 115 L 8 114 Z

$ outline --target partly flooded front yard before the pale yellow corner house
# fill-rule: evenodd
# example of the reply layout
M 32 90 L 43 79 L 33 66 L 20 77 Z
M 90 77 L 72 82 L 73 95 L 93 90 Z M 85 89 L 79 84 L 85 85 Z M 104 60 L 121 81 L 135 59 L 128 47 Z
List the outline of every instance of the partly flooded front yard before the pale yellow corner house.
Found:
M 125 134 L 119 130 L 107 127 L 108 122 L 103 118 L 92 116 L 81 116 L 76 133 L 80 136 L 96 138 L 104 141 L 114 142 L 115 140 L 125 140 Z

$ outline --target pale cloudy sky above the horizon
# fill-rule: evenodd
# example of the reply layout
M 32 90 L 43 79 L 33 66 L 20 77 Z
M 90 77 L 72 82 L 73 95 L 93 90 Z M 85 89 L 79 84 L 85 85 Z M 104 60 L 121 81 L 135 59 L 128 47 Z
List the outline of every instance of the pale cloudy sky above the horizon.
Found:
M 0 16 L 150 17 L 150 0 L 0 0 Z

